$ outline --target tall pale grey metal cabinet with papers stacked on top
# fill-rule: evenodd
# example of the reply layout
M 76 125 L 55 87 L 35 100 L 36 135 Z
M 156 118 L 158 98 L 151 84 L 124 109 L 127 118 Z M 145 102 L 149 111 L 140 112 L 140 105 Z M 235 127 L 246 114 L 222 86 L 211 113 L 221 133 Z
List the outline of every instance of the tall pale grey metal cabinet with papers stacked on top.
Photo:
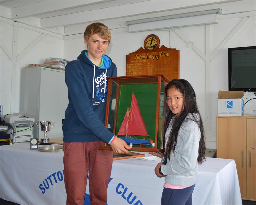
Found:
M 20 111 L 37 121 L 54 121 L 47 136 L 59 138 L 62 133 L 62 119 L 68 106 L 68 89 L 65 71 L 44 67 L 23 68 L 21 71 Z M 39 137 L 38 137 L 39 135 Z M 41 139 L 43 132 L 34 125 L 34 138 Z

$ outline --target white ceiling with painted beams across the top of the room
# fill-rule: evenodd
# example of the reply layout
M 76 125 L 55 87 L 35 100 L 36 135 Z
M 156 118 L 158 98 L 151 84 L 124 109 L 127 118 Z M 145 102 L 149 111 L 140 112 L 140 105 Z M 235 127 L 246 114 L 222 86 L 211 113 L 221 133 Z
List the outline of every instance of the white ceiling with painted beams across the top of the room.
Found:
M 241 0 L 0 0 L 0 16 L 43 29 L 96 21 L 115 29 L 127 27 L 126 21 L 202 11 L 234 1 Z

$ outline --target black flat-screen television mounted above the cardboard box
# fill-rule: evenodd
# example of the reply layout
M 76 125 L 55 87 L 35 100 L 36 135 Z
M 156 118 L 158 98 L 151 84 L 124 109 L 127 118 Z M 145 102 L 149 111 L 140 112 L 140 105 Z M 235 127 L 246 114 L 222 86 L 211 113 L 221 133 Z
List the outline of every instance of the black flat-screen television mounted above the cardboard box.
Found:
M 256 91 L 256 46 L 228 48 L 228 90 Z

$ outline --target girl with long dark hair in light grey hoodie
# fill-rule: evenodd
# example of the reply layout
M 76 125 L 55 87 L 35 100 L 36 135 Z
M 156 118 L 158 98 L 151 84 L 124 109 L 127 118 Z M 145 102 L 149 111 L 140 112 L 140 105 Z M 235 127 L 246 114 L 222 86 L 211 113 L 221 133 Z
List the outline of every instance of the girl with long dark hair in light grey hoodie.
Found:
M 192 205 L 197 163 L 205 159 L 204 127 L 195 91 L 187 80 L 172 80 L 167 84 L 165 94 L 169 109 L 164 128 L 163 158 L 167 162 L 159 163 L 155 168 L 158 177 L 165 176 L 161 204 Z M 159 153 L 153 155 L 160 156 Z

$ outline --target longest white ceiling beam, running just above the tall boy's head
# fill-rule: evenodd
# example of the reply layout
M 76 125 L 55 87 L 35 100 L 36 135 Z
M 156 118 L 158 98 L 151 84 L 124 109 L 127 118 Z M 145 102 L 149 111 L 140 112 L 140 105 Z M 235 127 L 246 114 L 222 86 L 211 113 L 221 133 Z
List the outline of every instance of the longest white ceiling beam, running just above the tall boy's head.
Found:
M 132 2 L 132 1 L 131 1 Z M 207 4 L 205 4 L 207 2 Z M 42 28 L 68 26 L 81 24 L 84 22 L 95 22 L 114 18 L 123 18 L 135 15 L 150 14 L 163 11 L 172 11 L 180 8 L 189 8 L 195 6 L 217 4 L 228 2 L 225 0 L 150 0 L 134 4 L 119 5 L 108 8 L 102 8 L 92 11 L 49 17 L 41 19 Z

